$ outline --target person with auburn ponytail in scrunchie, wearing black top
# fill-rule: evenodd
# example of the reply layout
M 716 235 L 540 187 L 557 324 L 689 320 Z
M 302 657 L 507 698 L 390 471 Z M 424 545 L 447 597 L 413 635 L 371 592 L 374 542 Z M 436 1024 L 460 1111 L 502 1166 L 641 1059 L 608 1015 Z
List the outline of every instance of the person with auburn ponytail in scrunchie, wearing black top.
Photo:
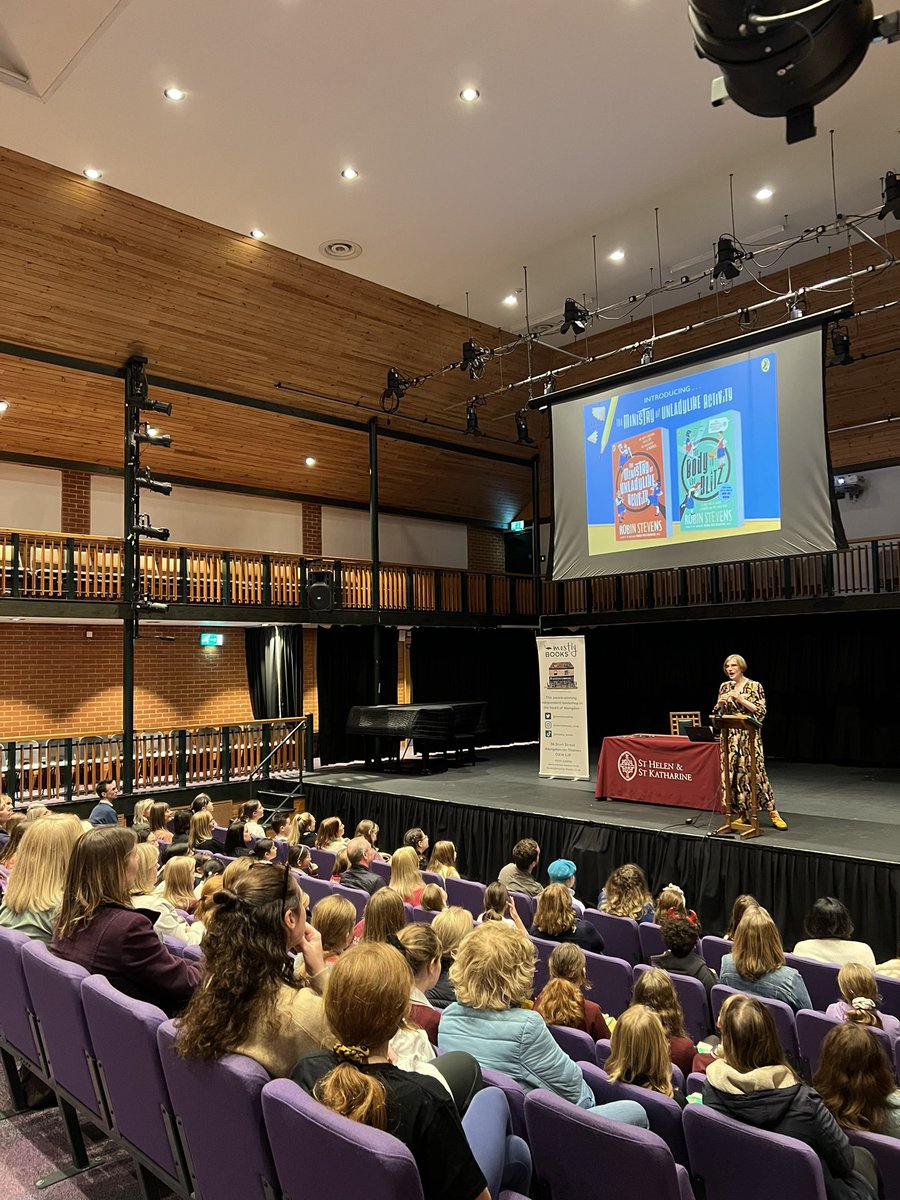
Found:
M 307 1055 L 292 1078 L 332 1111 L 402 1141 L 415 1159 L 425 1200 L 491 1200 L 460 1123 L 466 1094 L 455 1104 L 437 1079 L 403 1072 L 390 1061 L 389 1045 L 407 1019 L 410 988 L 409 966 L 391 947 L 364 943 L 348 950 L 335 965 L 325 996 L 338 1044 Z M 436 1072 L 450 1074 L 451 1057 L 438 1058 Z M 474 1094 L 478 1075 L 469 1070 Z

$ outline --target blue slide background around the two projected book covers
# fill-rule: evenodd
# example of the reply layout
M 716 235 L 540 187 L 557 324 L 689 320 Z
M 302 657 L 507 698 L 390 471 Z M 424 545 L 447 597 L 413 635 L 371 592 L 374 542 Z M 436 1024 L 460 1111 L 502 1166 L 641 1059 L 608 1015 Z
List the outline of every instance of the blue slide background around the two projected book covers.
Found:
M 763 366 L 767 364 L 768 368 Z M 730 400 L 709 408 L 702 407 L 702 397 L 720 389 L 732 389 Z M 664 406 L 690 404 L 700 400 L 701 407 L 676 412 L 661 416 Z M 740 362 L 714 367 L 710 371 L 698 371 L 695 374 L 682 376 L 668 383 L 652 384 L 638 391 L 619 392 L 616 416 L 606 446 L 600 449 L 605 420 L 598 420 L 593 410 L 608 410 L 608 398 L 589 400 L 583 406 L 584 422 L 584 480 L 587 493 L 588 524 L 612 524 L 616 512 L 613 492 L 613 446 L 623 438 L 632 437 L 646 430 L 668 430 L 668 460 L 666 479 L 670 493 L 678 479 L 678 445 L 676 431 L 691 420 L 708 420 L 716 413 L 738 410 L 740 413 L 743 439 L 743 479 L 744 479 L 744 518 L 779 520 L 781 516 L 780 470 L 778 454 L 778 355 L 769 352 Z M 626 414 L 640 413 L 648 408 L 653 413 L 649 419 L 625 426 Z M 598 433 L 592 444 L 588 438 Z M 667 496 L 670 504 L 676 500 Z M 677 504 L 676 504 L 677 511 Z M 726 534 L 728 530 L 722 530 Z M 626 547 L 622 547 L 626 548 Z

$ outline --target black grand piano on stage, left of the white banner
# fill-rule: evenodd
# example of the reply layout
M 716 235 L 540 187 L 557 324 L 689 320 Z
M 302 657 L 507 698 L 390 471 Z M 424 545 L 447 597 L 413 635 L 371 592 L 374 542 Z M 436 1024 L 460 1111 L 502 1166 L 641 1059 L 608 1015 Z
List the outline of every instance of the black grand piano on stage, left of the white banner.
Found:
M 454 751 L 462 762 L 463 752 L 469 751 L 474 762 L 475 742 L 487 733 L 487 701 L 356 704 L 347 716 L 347 732 L 365 739 L 366 766 L 376 770 L 398 770 L 400 743 L 412 740 L 421 755 L 421 773 L 427 775 L 433 754 L 446 757 L 448 751 Z

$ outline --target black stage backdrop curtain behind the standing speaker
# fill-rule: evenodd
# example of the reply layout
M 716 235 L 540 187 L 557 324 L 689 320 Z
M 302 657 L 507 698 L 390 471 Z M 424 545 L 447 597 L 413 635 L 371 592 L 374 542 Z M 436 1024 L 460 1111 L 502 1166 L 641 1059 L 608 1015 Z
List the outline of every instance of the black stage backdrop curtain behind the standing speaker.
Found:
M 752 606 L 748 606 L 751 608 Z M 742 617 L 588 630 L 590 744 L 668 732 L 670 710 L 706 716 L 742 654 L 766 689 L 766 754 L 791 762 L 900 766 L 900 637 L 893 612 Z

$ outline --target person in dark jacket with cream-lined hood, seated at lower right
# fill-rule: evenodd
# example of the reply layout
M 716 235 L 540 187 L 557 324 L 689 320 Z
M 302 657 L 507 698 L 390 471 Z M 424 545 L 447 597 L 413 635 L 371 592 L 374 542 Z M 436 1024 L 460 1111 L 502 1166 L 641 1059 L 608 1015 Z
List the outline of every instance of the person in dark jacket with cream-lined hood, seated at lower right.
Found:
M 829 1200 L 874 1200 L 877 1175 L 871 1156 L 850 1145 L 817 1093 L 788 1067 L 766 1006 L 752 996 L 728 996 L 719 1014 L 719 1031 L 722 1040 L 707 1067 L 703 1104 L 733 1121 L 809 1146 L 822 1164 Z

